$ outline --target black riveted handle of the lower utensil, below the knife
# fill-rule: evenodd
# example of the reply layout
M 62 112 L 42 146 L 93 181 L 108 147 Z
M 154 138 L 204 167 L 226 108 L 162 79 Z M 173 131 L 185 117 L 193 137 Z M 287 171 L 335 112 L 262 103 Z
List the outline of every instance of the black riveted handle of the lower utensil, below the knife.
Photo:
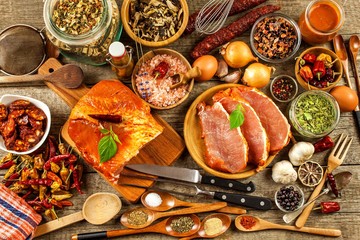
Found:
M 258 210 L 270 210 L 272 206 L 271 199 L 264 197 L 255 197 L 236 193 L 214 192 L 214 198 L 234 203 L 240 206 L 254 208 Z

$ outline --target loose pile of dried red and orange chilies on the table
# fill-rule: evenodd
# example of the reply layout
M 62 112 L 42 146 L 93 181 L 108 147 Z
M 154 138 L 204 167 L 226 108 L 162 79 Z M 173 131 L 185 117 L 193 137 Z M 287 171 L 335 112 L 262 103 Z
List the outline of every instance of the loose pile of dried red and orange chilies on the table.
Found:
M 3 183 L 17 193 L 39 213 L 56 219 L 56 209 L 72 206 L 68 199 L 75 188 L 80 194 L 83 165 L 63 143 L 53 137 L 32 155 L 16 156 L 11 153 L 0 160 L 0 169 L 8 169 Z

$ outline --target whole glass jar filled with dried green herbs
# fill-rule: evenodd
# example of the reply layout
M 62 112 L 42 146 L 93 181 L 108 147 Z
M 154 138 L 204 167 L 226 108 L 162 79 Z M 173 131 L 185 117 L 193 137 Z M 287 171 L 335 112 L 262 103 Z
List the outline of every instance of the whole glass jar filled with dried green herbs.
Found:
M 335 98 L 321 90 L 301 93 L 288 107 L 288 117 L 294 135 L 316 139 L 330 134 L 340 120 L 340 108 Z

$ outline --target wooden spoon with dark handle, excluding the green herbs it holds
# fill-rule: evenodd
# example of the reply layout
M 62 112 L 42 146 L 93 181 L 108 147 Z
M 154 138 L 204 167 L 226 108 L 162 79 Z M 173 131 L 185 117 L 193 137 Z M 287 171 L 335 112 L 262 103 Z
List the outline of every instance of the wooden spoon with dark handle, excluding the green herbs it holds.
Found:
M 120 237 L 126 236 L 130 234 L 139 234 L 139 233 L 161 233 L 173 237 L 185 237 L 190 236 L 196 233 L 200 228 L 200 219 L 194 215 L 185 215 L 191 217 L 194 221 L 194 226 L 191 228 L 190 231 L 187 232 L 176 232 L 171 228 L 171 222 L 179 216 L 169 217 L 157 224 L 152 226 L 148 226 L 141 229 L 120 229 L 120 230 L 110 230 L 110 231 L 102 231 L 102 232 L 94 232 L 94 233 L 82 233 L 82 234 L 74 234 L 71 236 L 71 240 L 78 240 L 78 239 L 100 239 L 100 238 L 112 238 L 112 237 Z

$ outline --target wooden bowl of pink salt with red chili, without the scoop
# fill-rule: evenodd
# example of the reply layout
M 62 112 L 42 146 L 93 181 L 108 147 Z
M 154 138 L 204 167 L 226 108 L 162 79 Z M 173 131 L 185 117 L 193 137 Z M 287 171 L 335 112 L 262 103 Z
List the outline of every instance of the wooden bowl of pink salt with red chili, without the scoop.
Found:
M 187 99 L 194 79 L 175 88 L 172 86 L 180 82 L 179 74 L 185 74 L 190 69 L 190 63 L 177 51 L 167 48 L 152 50 L 135 65 L 132 88 L 151 108 L 174 108 Z

